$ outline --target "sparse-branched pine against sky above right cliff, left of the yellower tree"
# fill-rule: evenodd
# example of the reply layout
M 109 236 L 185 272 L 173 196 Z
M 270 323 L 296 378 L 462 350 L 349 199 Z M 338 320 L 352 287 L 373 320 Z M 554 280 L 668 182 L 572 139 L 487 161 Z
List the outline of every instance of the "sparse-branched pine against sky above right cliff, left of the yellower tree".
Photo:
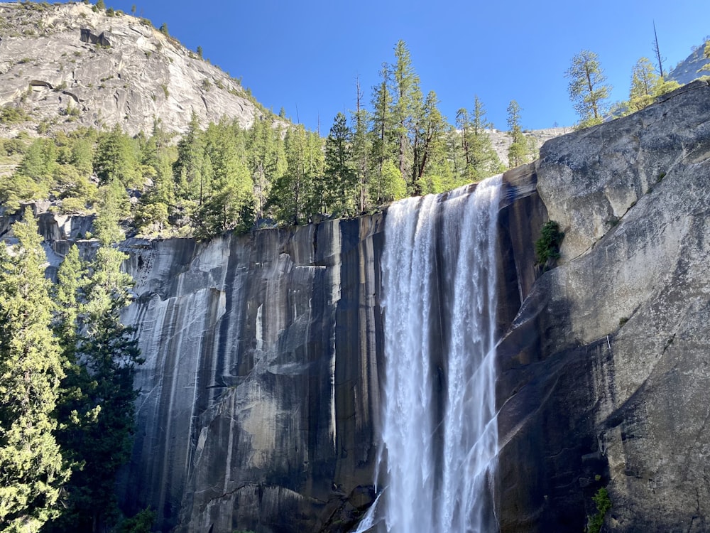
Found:
M 572 66 L 564 72 L 564 76 L 569 79 L 569 99 L 579 114 L 579 126 L 601 124 L 611 85 L 604 83 L 606 76 L 596 53 L 581 50 L 572 58 Z

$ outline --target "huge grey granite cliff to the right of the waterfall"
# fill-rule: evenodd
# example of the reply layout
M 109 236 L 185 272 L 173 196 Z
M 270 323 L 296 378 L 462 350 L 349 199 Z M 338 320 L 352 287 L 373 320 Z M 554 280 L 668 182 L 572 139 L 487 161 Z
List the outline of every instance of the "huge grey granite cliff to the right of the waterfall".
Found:
M 579 531 L 602 486 L 610 531 L 704 531 L 710 87 L 541 156 L 566 237 L 498 354 L 501 531 Z

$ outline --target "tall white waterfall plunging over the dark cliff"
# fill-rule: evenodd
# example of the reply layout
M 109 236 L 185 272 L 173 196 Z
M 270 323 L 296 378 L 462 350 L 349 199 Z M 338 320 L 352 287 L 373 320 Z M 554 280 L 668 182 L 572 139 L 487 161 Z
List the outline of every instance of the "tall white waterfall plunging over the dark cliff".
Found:
M 490 533 L 501 177 L 388 208 L 382 531 Z

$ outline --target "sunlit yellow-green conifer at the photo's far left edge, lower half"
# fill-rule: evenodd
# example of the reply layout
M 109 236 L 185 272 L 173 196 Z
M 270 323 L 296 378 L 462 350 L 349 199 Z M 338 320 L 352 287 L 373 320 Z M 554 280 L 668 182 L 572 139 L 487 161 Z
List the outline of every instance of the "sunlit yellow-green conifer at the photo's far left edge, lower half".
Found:
M 0 527 L 37 532 L 58 513 L 70 472 L 55 440 L 53 411 L 64 376 L 51 330 L 46 257 L 29 210 L 0 245 Z

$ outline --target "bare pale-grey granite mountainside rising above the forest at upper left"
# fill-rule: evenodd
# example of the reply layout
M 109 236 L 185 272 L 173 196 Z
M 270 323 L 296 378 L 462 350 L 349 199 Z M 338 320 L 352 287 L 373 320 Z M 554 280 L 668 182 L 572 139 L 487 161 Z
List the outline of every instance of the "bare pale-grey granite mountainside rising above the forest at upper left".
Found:
M 110 15 L 110 16 L 109 16 Z M 222 117 L 249 126 L 266 113 L 239 80 L 146 19 L 88 4 L 0 4 L 0 108 L 26 117 L 0 135 L 77 125 L 184 131 Z M 4 130 L 4 131 L 3 131 Z

